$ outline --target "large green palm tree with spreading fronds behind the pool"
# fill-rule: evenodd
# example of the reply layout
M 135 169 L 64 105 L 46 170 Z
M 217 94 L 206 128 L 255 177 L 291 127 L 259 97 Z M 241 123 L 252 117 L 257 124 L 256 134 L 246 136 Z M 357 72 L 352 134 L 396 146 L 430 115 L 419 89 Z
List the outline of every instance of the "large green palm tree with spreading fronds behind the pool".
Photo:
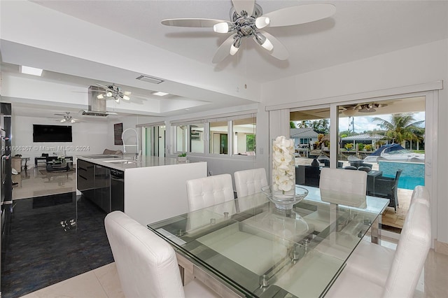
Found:
M 392 139 L 394 143 L 417 140 L 421 135 L 422 128 L 420 125 L 425 122 L 424 120 L 415 121 L 414 113 L 392 114 L 389 121 L 378 117 L 373 118 L 373 120 L 380 122 L 379 127 L 386 131 L 385 136 Z

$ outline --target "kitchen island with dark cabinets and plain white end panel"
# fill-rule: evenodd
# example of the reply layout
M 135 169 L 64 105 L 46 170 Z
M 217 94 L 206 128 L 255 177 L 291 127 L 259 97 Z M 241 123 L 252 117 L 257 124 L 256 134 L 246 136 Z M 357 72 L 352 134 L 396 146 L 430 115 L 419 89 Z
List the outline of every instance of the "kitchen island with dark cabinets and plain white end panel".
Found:
M 76 162 L 77 192 L 106 213 L 124 211 L 141 225 L 188 212 L 186 181 L 207 176 L 207 162 L 89 155 Z

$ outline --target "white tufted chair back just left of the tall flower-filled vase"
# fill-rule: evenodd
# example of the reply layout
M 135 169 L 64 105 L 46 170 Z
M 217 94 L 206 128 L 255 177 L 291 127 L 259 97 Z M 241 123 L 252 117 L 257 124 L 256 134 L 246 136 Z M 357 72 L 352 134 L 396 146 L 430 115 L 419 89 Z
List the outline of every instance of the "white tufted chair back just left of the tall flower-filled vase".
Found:
M 238 197 L 261 192 L 261 187 L 267 186 L 266 171 L 264 168 L 236 171 L 235 189 Z

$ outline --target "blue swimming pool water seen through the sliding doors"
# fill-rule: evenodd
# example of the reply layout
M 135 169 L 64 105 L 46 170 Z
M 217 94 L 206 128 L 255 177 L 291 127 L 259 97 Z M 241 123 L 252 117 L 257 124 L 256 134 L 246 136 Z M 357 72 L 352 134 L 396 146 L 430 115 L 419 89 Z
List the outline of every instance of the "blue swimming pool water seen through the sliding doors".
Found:
M 417 185 L 425 185 L 425 164 L 419 162 L 386 162 L 379 160 L 379 171 L 383 176 L 395 177 L 397 170 L 402 169 L 398 188 L 413 190 Z

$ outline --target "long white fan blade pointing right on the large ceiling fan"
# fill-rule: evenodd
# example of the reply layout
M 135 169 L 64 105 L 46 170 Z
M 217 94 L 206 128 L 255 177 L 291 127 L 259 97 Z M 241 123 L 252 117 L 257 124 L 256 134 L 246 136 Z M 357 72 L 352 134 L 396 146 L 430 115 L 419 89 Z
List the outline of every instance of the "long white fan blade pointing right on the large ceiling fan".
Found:
M 330 17 L 335 12 L 336 7 L 332 4 L 315 3 L 281 8 L 263 16 L 269 17 L 269 27 L 280 27 L 314 22 Z

